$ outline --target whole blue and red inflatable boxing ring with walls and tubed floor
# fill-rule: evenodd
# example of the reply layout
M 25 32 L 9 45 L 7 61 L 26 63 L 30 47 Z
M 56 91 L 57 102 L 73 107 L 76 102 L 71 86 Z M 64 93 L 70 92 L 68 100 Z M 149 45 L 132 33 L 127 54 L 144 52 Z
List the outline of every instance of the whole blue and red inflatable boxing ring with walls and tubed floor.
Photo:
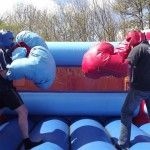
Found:
M 120 111 L 127 92 L 117 88 L 119 84 L 115 91 L 110 91 L 109 78 L 101 82 L 82 74 L 83 55 L 94 44 L 47 42 L 60 75 L 56 77 L 57 84 L 47 91 L 19 90 L 29 111 L 30 137 L 33 141 L 44 141 L 32 150 L 115 150 L 120 134 Z M 77 71 L 69 72 L 70 68 Z M 115 80 L 123 84 L 124 79 L 112 79 Z M 138 112 L 139 108 L 135 116 Z M 0 124 L 0 150 L 24 150 L 16 114 L 6 109 L 5 116 L 7 119 Z M 132 124 L 130 140 L 131 150 L 150 149 L 150 124 Z

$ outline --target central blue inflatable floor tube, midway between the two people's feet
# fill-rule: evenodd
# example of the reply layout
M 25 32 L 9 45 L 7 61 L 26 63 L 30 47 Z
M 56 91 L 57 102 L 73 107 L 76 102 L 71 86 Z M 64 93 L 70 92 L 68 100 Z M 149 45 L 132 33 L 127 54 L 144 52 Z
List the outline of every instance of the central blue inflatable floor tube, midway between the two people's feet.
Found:
M 115 150 L 104 127 L 93 119 L 80 119 L 70 126 L 72 150 Z

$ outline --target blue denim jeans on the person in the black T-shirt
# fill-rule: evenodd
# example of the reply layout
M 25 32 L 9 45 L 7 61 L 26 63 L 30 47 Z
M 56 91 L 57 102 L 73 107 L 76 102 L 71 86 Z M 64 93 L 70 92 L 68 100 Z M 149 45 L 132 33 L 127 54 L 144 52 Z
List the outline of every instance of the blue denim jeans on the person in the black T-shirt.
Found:
M 140 91 L 130 88 L 126 100 L 121 110 L 121 133 L 119 145 L 123 148 L 129 148 L 132 117 L 136 108 L 145 99 L 148 115 L 150 117 L 150 91 Z

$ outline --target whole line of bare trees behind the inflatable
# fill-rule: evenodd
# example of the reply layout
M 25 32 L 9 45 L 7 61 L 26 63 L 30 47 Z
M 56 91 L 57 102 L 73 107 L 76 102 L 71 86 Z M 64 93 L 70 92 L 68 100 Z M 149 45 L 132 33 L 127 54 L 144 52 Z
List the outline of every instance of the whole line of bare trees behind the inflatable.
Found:
M 55 13 L 17 3 L 0 16 L 0 28 L 38 33 L 45 41 L 121 41 L 130 30 L 150 29 L 150 0 L 74 0 Z M 121 36 L 118 36 L 120 33 Z

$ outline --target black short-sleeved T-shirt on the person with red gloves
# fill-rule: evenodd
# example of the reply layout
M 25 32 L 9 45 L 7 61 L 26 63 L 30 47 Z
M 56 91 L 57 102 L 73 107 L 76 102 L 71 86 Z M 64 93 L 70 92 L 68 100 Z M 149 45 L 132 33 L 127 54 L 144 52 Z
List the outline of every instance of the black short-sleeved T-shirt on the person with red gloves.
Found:
M 150 44 L 141 43 L 128 55 L 133 68 L 131 87 L 141 91 L 150 91 Z

